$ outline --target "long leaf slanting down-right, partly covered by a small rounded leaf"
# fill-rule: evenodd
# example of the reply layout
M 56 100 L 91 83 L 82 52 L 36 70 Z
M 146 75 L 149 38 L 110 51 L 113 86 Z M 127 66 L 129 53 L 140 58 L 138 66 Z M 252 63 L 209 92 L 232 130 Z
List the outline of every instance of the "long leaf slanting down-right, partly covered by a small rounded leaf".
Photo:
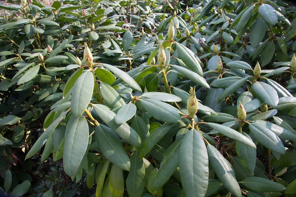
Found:
M 114 121 L 115 113 L 109 110 L 109 108 L 102 104 L 94 104 L 94 110 L 98 116 L 106 123 L 112 131 L 114 131 L 119 137 L 129 142 L 130 144 L 140 147 L 141 138 L 138 133 L 132 129 L 127 123 L 117 125 Z

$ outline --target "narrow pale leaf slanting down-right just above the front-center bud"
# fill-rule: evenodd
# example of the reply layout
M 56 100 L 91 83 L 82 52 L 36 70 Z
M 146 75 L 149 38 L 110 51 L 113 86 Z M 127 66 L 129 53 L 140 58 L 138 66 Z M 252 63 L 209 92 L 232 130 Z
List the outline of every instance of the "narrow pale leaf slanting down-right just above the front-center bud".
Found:
M 193 81 L 194 83 L 196 83 L 197 85 L 200 85 L 200 86 L 210 89 L 210 86 L 207 83 L 207 81 L 203 77 L 201 77 L 200 75 L 196 74 L 195 72 L 192 72 L 184 67 L 177 66 L 177 65 L 171 65 L 171 67 L 174 68 L 175 70 L 177 70 L 178 72 L 180 72 L 186 78 L 188 78 L 191 81 Z

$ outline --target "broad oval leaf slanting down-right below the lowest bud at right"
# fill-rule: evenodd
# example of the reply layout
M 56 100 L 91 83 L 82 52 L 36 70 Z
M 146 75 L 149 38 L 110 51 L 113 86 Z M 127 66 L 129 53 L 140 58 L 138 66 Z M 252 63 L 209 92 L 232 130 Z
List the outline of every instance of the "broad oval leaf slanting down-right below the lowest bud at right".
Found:
M 249 124 L 249 129 L 256 139 L 266 148 L 282 155 L 286 153 L 282 141 L 274 132 L 258 123 Z

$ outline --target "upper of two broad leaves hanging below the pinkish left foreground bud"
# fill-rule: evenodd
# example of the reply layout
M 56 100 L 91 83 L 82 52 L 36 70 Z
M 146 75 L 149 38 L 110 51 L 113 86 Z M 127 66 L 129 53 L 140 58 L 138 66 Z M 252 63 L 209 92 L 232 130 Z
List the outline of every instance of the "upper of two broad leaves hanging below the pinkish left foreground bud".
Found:
M 71 97 L 72 112 L 80 117 L 90 102 L 94 89 L 94 77 L 90 70 L 81 74 L 76 80 Z

